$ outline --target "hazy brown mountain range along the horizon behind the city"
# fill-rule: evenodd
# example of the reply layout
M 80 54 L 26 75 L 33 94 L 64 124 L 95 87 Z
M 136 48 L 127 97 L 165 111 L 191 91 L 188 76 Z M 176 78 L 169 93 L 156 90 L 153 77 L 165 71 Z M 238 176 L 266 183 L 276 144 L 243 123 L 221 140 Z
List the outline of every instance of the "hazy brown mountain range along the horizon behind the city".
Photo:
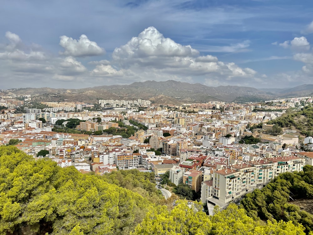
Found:
M 1 95 L 38 95 L 38 101 L 96 102 L 99 99 L 146 99 L 160 104 L 209 101 L 257 101 L 285 97 L 303 97 L 313 93 L 313 85 L 293 88 L 256 89 L 245 86 L 205 86 L 179 81 L 145 81 L 130 85 L 95 86 L 83 89 L 18 88 L 1 91 Z

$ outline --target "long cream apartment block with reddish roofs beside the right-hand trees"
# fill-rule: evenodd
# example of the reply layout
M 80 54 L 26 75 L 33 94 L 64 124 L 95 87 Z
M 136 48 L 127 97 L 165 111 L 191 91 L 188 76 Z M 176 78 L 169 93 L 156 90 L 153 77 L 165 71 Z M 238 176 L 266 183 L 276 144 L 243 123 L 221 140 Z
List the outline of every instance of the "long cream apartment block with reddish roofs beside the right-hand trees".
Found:
M 262 188 L 280 173 L 300 171 L 305 165 L 305 159 L 297 156 L 267 158 L 250 161 L 247 164 L 232 165 L 223 170 L 213 172 L 212 186 L 203 183 L 202 189 L 210 192 L 203 202 L 210 201 L 210 197 L 222 203 L 228 203 L 243 196 L 256 188 Z M 208 192 L 202 192 L 202 196 Z

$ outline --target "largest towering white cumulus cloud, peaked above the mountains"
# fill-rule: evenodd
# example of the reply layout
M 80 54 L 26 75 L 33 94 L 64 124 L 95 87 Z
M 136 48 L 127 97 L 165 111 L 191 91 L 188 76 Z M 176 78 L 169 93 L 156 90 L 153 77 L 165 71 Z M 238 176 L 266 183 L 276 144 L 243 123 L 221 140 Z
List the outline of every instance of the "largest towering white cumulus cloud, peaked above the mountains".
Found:
M 245 48 L 249 46 L 249 41 L 233 46 Z M 214 75 L 233 79 L 254 77 L 257 74 L 253 69 L 240 68 L 234 63 L 224 64 L 215 56 L 199 54 L 199 51 L 190 45 L 178 44 L 165 38 L 156 28 L 149 27 L 138 37 L 133 37 L 125 45 L 115 48 L 112 58 L 124 69 L 134 71 L 138 77 L 146 76 L 149 79 L 157 77 L 164 80 L 169 74 L 184 80 L 192 76 Z

